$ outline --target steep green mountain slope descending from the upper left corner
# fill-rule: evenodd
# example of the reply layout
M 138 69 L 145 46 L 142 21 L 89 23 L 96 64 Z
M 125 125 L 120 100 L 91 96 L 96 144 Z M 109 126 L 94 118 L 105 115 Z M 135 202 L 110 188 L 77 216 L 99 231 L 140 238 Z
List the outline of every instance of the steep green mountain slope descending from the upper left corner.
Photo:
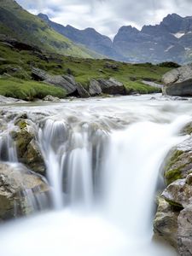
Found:
M 0 34 L 63 55 L 87 58 L 99 56 L 61 36 L 13 0 L 0 0 Z

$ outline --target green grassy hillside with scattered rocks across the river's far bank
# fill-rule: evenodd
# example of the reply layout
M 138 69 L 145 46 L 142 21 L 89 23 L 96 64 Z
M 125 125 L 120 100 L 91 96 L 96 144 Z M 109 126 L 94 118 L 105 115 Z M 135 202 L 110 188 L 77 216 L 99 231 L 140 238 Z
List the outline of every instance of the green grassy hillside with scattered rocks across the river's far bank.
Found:
M 158 92 L 157 88 L 143 84 L 142 80 L 160 82 L 161 76 L 170 70 L 169 67 L 159 67 L 149 63 L 128 64 L 19 50 L 0 42 L 0 94 L 22 99 L 41 98 L 45 94 L 65 96 L 65 91 L 60 88 L 32 81 L 32 67 L 44 69 L 50 74 L 73 74 L 76 81 L 83 84 L 85 88 L 89 86 L 90 79 L 113 77 L 125 84 L 127 94 L 134 91 L 138 93 Z

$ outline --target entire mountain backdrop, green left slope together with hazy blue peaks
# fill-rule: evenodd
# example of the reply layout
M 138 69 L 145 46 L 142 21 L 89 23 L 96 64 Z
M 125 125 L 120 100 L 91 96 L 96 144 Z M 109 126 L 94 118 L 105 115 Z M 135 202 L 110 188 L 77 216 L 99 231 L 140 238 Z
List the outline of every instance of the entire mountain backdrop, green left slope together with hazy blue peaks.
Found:
M 167 15 L 139 31 L 122 26 L 113 41 L 93 28 L 62 26 L 44 14 L 28 13 L 14 0 L 0 0 L 0 40 L 15 38 L 42 50 L 82 58 L 127 62 L 192 62 L 192 17 Z

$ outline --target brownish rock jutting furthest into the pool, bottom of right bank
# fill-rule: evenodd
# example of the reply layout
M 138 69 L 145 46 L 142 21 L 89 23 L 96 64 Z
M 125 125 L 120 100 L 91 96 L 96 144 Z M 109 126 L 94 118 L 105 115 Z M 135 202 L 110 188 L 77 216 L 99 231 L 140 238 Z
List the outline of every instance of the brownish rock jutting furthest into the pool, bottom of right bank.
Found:
M 162 197 L 158 198 L 158 209 L 154 217 L 154 233 L 163 236 L 177 247 L 177 216 L 179 212 Z

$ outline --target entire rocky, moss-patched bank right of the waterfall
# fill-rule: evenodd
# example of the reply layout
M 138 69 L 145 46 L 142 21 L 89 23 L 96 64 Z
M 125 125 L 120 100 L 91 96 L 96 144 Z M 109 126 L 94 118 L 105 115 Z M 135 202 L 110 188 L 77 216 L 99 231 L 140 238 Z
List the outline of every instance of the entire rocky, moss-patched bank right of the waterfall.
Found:
M 163 236 L 182 256 L 192 254 L 192 137 L 172 149 L 163 167 L 166 189 L 158 197 L 154 232 Z

